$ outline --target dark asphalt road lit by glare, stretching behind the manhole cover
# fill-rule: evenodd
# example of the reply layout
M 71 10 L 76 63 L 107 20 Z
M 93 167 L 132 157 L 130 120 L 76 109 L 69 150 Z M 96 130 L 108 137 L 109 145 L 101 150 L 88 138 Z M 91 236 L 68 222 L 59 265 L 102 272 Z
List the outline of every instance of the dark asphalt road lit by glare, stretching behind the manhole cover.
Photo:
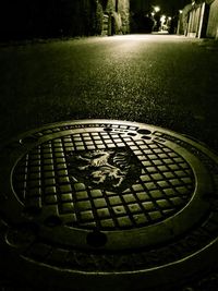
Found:
M 0 47 L 1 140 L 84 118 L 160 125 L 218 145 L 218 46 L 133 35 Z

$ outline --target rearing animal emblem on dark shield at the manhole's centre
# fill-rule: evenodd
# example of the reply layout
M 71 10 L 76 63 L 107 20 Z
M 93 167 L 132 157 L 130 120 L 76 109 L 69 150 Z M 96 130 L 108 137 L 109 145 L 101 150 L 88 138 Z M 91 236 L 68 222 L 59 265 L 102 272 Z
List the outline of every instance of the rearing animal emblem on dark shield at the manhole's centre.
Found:
M 141 163 L 126 147 L 71 151 L 66 156 L 72 181 L 108 191 L 124 190 L 141 175 Z

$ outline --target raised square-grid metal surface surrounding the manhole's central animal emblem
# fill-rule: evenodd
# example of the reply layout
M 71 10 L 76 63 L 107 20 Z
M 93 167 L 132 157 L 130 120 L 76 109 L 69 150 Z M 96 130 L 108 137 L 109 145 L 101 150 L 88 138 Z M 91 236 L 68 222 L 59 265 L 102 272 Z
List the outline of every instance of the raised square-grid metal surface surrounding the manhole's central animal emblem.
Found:
M 70 154 L 117 148 L 129 148 L 141 166 L 138 179 L 126 189 L 90 185 L 70 173 Z M 49 207 L 70 227 L 122 230 L 162 221 L 182 209 L 195 181 L 189 163 L 171 148 L 107 131 L 62 136 L 35 147 L 16 165 L 13 186 L 25 207 Z

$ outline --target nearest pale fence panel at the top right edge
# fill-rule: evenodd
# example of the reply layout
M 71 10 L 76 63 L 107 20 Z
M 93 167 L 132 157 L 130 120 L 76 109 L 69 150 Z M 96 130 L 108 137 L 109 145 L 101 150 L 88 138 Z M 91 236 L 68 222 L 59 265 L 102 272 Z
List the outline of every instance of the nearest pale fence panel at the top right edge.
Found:
M 215 0 L 210 4 L 209 20 L 208 20 L 206 36 L 218 38 L 218 0 Z

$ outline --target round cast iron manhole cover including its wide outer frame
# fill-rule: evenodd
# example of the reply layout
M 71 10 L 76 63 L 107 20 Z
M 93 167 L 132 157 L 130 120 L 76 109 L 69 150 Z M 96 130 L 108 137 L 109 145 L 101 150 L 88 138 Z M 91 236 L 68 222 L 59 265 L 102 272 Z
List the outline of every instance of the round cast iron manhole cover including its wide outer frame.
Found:
M 26 280 L 140 290 L 216 260 L 218 158 L 183 135 L 56 123 L 2 147 L 0 171 L 0 243 Z

